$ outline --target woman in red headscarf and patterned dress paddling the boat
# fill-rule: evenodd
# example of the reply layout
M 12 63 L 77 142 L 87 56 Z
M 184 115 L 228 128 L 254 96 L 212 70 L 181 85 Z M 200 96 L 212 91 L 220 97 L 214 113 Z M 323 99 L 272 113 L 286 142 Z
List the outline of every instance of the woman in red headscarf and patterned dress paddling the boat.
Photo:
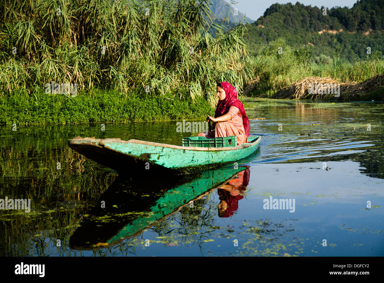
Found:
M 237 90 L 228 82 L 220 82 L 216 87 L 218 103 L 215 117 L 208 116 L 207 121 L 214 122 L 212 131 L 200 133 L 208 139 L 214 137 L 237 136 L 237 145 L 247 142 L 249 120 L 243 104 L 237 99 Z

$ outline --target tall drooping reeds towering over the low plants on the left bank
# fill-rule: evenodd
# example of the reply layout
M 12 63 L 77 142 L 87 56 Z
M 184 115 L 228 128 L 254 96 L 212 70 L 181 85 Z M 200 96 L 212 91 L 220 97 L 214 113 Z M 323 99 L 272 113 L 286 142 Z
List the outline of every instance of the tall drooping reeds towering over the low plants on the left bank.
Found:
M 225 31 L 211 17 L 210 0 L 0 5 L 0 87 L 7 92 L 37 94 L 51 81 L 124 92 L 148 85 L 152 94 L 183 87 L 192 99 L 202 95 L 213 102 L 209 93 L 217 80 L 241 90 L 251 75 L 245 27 Z

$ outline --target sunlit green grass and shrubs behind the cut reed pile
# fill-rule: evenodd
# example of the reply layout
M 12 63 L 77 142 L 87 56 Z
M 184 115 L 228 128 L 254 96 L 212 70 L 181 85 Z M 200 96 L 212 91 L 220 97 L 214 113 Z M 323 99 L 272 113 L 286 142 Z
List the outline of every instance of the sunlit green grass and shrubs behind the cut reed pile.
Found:
M 278 53 L 281 47 L 281 54 Z M 384 73 L 384 56 L 374 52 L 361 59 L 356 57 L 354 64 L 343 60 L 333 60 L 332 64 L 310 62 L 310 47 L 293 49 L 278 39 L 260 50 L 260 54 L 250 58 L 254 77 L 258 84 L 253 95 L 266 94 L 267 97 L 280 89 L 303 80 L 306 77 L 331 77 L 340 82 L 362 82 L 377 74 Z

